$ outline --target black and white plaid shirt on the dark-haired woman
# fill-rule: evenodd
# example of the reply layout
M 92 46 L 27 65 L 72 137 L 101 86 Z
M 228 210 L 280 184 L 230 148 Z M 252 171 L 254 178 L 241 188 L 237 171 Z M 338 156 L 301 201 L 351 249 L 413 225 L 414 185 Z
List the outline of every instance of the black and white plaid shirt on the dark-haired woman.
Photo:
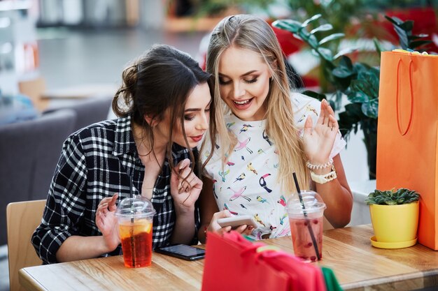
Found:
M 177 144 L 172 156 L 175 165 L 190 157 L 188 149 Z M 119 193 L 118 202 L 139 195 L 137 189 L 141 189 L 144 172 L 129 117 L 102 121 L 70 135 L 62 147 L 41 225 L 31 238 L 41 260 L 46 264 L 57 262 L 59 246 L 71 235 L 101 235 L 95 223 L 99 202 L 114 193 Z M 157 211 L 153 218 L 153 248 L 169 244 L 174 229 L 176 214 L 170 194 L 170 173 L 166 159 L 151 199 Z M 195 222 L 193 227 L 197 230 L 198 207 Z M 118 246 L 107 255 L 120 253 Z

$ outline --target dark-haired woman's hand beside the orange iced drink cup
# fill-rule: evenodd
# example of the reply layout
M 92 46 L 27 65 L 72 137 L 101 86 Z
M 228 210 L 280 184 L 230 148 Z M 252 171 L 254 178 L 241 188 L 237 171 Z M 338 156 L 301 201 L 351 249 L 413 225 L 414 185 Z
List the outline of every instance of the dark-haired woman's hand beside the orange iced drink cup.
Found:
M 120 244 L 119 225 L 115 217 L 115 200 L 118 193 L 113 197 L 106 197 L 99 202 L 96 211 L 96 225 L 104 237 L 104 244 L 108 248 L 108 252 L 114 251 Z

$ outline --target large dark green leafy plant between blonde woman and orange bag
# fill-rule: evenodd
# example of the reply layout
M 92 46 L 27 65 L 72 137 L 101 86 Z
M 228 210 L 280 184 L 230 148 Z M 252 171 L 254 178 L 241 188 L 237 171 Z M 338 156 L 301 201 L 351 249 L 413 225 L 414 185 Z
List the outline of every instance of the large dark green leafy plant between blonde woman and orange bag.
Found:
M 333 33 L 320 38 L 318 31 L 332 29 L 327 23 L 316 26 L 314 29 L 309 28 L 310 24 L 319 20 L 321 16 L 320 14 L 313 15 L 303 23 L 295 20 L 276 20 L 273 25 L 290 31 L 295 37 L 302 39 L 311 47 L 313 54 L 318 55 L 325 62 L 325 77 L 336 90 L 335 96 L 337 96 L 338 103 L 343 94 L 351 102 L 346 105 L 344 112 L 339 113 L 339 128 L 342 135 L 348 138 L 352 131 L 354 133 L 358 131 L 358 126 L 363 128 L 371 120 L 377 119 L 380 71 L 367 64 L 353 64 L 346 56 L 354 51 L 353 48 L 333 52 L 330 48 L 324 47 L 323 45 L 333 40 L 343 38 L 344 33 Z M 309 95 L 309 91 L 304 94 Z

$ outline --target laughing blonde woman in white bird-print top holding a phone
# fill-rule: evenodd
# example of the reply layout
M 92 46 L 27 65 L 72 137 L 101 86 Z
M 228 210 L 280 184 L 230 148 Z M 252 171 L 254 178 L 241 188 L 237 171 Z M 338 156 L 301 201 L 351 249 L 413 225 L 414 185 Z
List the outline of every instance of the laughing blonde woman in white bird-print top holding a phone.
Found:
M 257 227 L 237 228 L 255 239 L 290 235 L 285 201 L 296 191 L 292 172 L 302 189 L 323 197 L 332 226 L 348 224 L 353 197 L 334 112 L 325 100 L 290 93 L 269 24 L 252 15 L 226 17 L 211 34 L 206 67 L 215 77 L 218 128 L 213 156 L 202 152 L 199 239 L 204 241 L 206 230 L 229 231 L 217 219 L 236 214 L 255 218 Z

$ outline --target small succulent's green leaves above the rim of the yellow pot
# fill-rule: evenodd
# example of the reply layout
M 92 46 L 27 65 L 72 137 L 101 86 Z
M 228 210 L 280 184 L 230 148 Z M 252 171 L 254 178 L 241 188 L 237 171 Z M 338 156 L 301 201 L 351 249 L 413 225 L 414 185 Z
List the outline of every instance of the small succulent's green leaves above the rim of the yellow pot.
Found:
M 369 193 L 365 202 L 367 205 L 400 205 L 416 202 L 419 199 L 420 195 L 416 191 L 407 188 L 399 188 L 397 190 L 392 189 L 387 191 L 375 190 Z

